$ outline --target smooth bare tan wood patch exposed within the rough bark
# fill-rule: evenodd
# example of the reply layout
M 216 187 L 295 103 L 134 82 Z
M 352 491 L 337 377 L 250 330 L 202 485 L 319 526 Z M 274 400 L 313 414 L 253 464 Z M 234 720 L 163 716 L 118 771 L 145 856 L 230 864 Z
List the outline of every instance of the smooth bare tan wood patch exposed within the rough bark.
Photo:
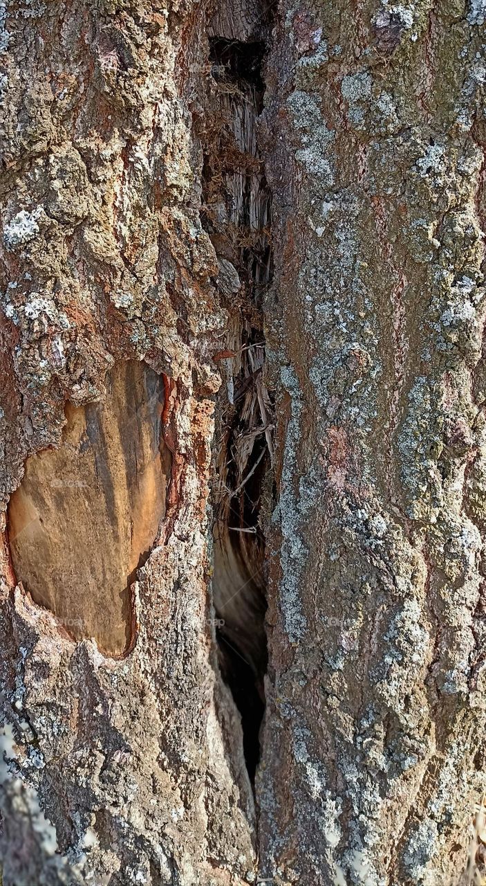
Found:
M 17 579 L 75 639 L 120 656 L 130 644 L 129 584 L 158 535 L 170 455 L 164 385 L 145 363 L 120 363 L 104 403 L 66 406 L 58 449 L 27 459 L 8 508 Z

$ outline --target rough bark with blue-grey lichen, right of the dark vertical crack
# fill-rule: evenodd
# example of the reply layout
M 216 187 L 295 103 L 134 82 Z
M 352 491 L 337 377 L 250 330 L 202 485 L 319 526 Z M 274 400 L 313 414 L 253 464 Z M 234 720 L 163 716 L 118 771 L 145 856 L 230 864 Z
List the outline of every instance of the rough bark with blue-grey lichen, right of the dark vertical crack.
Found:
M 260 856 L 275 882 L 458 883 L 484 764 L 486 11 L 283 6 Z

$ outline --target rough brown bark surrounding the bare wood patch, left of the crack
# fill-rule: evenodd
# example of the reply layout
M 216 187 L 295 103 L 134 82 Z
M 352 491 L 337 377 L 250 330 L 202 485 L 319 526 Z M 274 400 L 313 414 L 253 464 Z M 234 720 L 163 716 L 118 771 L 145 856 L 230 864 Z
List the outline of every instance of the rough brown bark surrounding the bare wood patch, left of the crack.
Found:
M 59 446 L 66 401 L 104 401 L 121 361 L 165 377 L 172 453 L 124 659 L 73 642 L 62 619 L 13 590 L 5 548 L 2 703 L 15 778 L 3 780 L 4 884 L 240 882 L 254 867 L 253 799 L 215 672 L 207 592 L 211 356 L 224 315 L 200 221 L 205 11 L 2 10 L 4 502 L 27 456 Z M 36 804 L 56 827 L 62 869 Z

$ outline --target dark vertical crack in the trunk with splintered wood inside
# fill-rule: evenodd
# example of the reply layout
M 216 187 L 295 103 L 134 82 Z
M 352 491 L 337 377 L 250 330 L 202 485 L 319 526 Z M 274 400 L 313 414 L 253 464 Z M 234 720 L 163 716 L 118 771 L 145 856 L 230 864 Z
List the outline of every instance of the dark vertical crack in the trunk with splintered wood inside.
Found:
M 273 403 L 262 303 L 271 279 L 271 195 L 258 150 L 269 20 L 261 8 L 218 12 L 209 30 L 211 85 L 203 219 L 228 311 L 214 446 L 214 576 L 223 677 L 240 711 L 251 781 L 265 711 L 265 514 L 271 499 Z

